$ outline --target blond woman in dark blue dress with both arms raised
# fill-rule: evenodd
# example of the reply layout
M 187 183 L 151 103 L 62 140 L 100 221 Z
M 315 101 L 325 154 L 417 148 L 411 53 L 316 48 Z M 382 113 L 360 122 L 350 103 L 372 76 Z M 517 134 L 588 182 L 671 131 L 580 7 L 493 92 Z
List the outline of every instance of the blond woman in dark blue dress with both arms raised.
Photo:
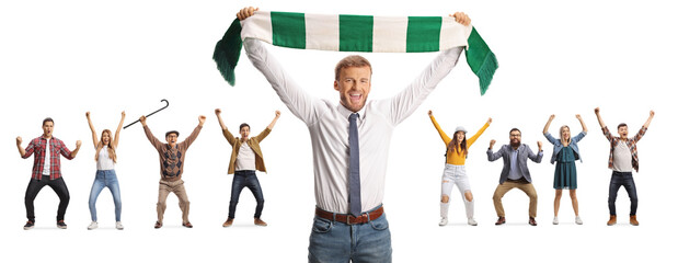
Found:
M 549 126 L 555 118 L 555 115 L 549 117 L 549 122 L 543 127 L 543 135 L 553 145 L 553 155 L 551 156 L 551 163 L 555 163 L 555 173 L 553 175 L 553 188 L 555 188 L 555 199 L 553 201 L 553 225 L 558 225 L 558 210 L 561 206 L 561 196 L 563 190 L 570 190 L 570 198 L 572 199 L 572 208 L 574 209 L 575 222 L 577 225 L 584 224 L 579 218 L 579 203 L 577 201 L 577 169 L 574 164 L 576 160 L 582 160 L 579 155 L 579 147 L 577 142 L 586 136 L 588 129 L 586 124 L 582 119 L 579 114 L 576 118 L 582 124 L 582 133 L 575 137 L 571 137 L 570 127 L 563 125 L 560 129 L 560 138 L 553 138 L 549 133 Z

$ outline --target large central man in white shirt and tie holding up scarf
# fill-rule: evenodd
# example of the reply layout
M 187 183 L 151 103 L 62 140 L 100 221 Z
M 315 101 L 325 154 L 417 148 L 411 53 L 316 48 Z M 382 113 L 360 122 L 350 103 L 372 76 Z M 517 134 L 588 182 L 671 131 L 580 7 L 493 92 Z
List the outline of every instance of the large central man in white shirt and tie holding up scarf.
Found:
M 242 21 L 257 10 L 244 8 L 237 16 Z M 464 13 L 453 18 L 470 24 Z M 348 56 L 335 68 L 338 105 L 306 93 L 260 41 L 246 38 L 244 47 L 254 67 L 310 132 L 317 208 L 309 262 L 391 262 L 391 235 L 381 204 L 391 135 L 451 71 L 463 47 L 440 52 L 395 96 L 370 102 L 371 66 L 361 56 Z

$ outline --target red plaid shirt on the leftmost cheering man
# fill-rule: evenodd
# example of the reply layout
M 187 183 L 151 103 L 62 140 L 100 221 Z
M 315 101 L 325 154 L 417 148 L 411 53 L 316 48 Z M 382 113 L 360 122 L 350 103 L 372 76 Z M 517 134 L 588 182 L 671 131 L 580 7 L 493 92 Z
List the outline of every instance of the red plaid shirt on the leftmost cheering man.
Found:
M 47 145 L 49 145 L 49 180 L 55 180 L 61 178 L 61 159 L 59 155 L 66 157 L 66 159 L 73 159 L 70 156 L 70 150 L 66 148 L 64 141 L 51 137 L 49 139 L 49 144 L 47 144 L 47 139 L 37 137 L 31 140 L 31 144 L 26 147 L 26 155 L 22 158 L 26 159 L 31 157 L 31 155 L 35 153 L 33 158 L 33 173 L 31 178 L 35 180 L 41 180 L 43 176 L 43 169 L 45 168 L 45 151 Z

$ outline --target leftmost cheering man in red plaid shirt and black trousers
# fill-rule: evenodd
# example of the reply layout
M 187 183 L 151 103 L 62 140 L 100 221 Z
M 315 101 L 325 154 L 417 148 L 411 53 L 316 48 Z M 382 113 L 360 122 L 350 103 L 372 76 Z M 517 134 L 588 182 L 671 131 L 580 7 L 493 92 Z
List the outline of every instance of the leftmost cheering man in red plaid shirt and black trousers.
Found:
M 61 178 L 59 155 L 66 157 L 68 160 L 76 158 L 76 155 L 78 155 L 80 150 L 81 141 L 76 141 L 76 150 L 70 151 L 66 148 L 64 141 L 51 136 L 53 132 L 54 121 L 51 118 L 45 118 L 43 121 L 43 135 L 31 140 L 26 149 L 21 147 L 21 137 L 16 137 L 16 148 L 19 148 L 21 158 L 26 159 L 35 153 L 33 159 L 33 173 L 25 196 L 26 217 L 28 218 L 28 221 L 24 226 L 25 230 L 32 229 L 35 225 L 33 201 L 35 201 L 37 193 L 39 193 L 45 185 L 49 185 L 59 196 L 57 227 L 66 229 L 64 216 L 66 215 L 66 208 L 68 207 L 70 196 L 68 194 L 68 187 L 66 187 L 66 182 L 64 182 L 64 178 Z

